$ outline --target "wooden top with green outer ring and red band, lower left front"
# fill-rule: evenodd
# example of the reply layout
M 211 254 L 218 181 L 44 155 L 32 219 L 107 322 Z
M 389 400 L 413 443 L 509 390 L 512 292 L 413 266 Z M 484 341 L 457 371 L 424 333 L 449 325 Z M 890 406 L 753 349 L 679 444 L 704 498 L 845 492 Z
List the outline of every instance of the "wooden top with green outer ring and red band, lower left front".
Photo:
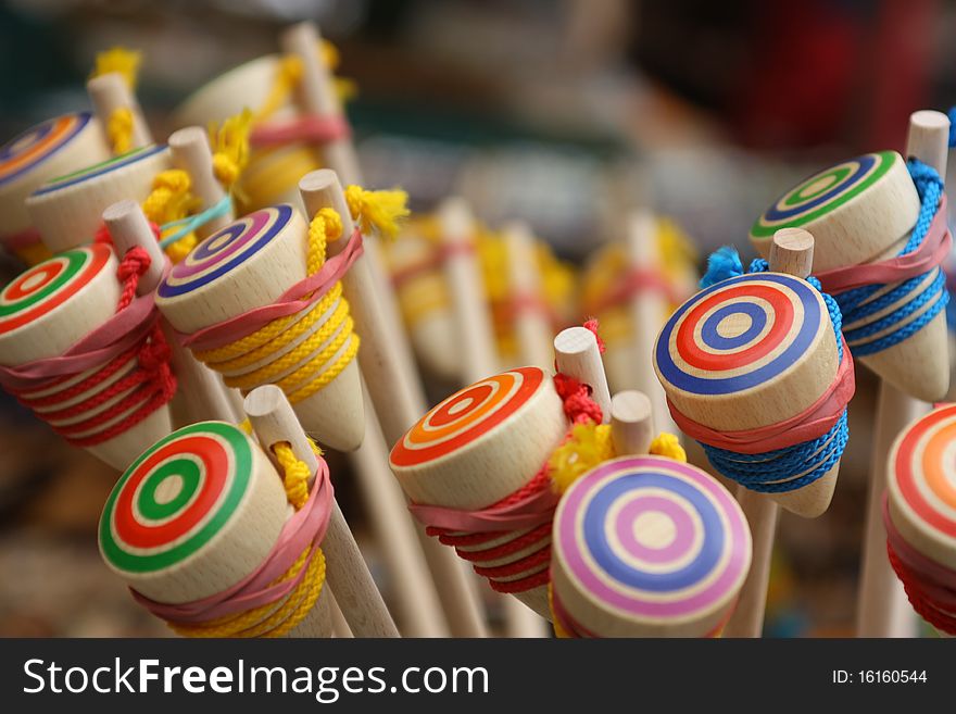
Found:
M 243 583 L 252 587 L 248 580 L 254 575 L 263 579 L 257 572 L 290 517 L 282 477 L 259 444 L 234 424 L 200 422 L 161 439 L 129 465 L 103 508 L 100 553 L 137 599 L 177 631 L 262 636 L 281 631 L 288 614 L 265 621 L 289 599 L 301 600 L 301 592 L 260 604 L 257 616 L 235 629 L 202 630 L 211 621 L 253 610 L 225 606 L 223 593 L 241 592 Z M 265 589 L 287 568 L 277 567 L 252 589 Z M 325 590 L 285 634 L 329 636 Z

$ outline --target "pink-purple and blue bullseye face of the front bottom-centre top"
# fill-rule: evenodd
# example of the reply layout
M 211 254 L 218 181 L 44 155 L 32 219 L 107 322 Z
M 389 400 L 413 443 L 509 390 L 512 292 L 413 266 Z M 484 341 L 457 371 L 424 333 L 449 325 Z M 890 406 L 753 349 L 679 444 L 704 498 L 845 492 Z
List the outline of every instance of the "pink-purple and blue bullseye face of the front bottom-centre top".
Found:
M 638 621 L 729 605 L 751 561 L 750 529 L 730 493 L 701 469 L 657 456 L 616 459 L 575 481 L 552 547 L 574 587 Z

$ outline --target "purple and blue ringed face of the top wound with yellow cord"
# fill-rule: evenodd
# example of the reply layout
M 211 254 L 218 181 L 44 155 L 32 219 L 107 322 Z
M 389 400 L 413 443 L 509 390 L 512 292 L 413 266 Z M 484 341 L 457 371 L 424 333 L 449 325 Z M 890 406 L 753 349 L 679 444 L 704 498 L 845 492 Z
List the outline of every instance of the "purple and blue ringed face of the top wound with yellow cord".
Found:
M 292 214 L 292 206 L 282 203 L 250 213 L 213 234 L 173 266 L 160 285 L 160 297 L 184 295 L 226 275 L 268 245 Z

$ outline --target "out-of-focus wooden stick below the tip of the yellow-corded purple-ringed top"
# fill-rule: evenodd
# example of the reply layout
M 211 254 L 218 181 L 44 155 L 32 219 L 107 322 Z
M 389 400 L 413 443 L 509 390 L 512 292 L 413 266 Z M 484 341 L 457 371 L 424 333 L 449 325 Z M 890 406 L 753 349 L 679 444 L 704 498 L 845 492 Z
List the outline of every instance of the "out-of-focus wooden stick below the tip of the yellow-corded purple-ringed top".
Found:
M 365 438 L 349 460 L 393 583 L 402 632 L 406 637 L 448 637 L 441 601 L 418 547 L 402 489 L 388 467 L 388 448 L 367 390 L 364 397 Z

